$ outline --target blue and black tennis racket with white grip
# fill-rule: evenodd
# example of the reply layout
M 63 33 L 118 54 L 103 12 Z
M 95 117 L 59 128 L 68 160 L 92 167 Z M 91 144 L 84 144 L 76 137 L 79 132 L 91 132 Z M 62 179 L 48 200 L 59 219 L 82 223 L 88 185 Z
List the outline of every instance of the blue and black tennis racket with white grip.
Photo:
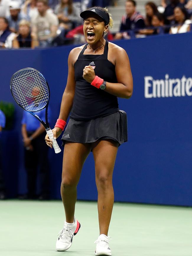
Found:
M 55 153 L 61 152 L 48 123 L 47 110 L 50 90 L 45 77 L 33 68 L 20 69 L 12 75 L 10 89 L 17 104 L 43 124 L 49 139 L 53 142 Z M 45 123 L 35 114 L 43 108 L 45 108 Z

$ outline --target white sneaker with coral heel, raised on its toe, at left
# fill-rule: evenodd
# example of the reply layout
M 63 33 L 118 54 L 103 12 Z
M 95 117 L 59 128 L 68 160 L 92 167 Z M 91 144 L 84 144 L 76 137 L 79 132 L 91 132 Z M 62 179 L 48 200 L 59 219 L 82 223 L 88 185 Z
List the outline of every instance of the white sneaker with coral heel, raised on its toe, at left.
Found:
M 56 250 L 64 252 L 71 247 L 73 236 L 77 234 L 81 225 L 74 217 L 74 225 L 68 225 L 65 221 L 63 229 L 58 233 L 58 240 L 56 242 Z

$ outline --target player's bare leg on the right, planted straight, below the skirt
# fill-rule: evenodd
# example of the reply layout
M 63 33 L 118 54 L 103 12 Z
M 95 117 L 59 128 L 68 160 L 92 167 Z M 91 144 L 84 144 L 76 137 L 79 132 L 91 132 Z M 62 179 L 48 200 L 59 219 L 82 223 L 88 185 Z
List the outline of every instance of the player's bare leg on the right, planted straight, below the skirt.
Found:
M 114 202 L 112 176 L 118 143 L 112 140 L 101 140 L 92 143 L 92 148 L 98 192 L 99 229 L 100 234 L 107 236 Z

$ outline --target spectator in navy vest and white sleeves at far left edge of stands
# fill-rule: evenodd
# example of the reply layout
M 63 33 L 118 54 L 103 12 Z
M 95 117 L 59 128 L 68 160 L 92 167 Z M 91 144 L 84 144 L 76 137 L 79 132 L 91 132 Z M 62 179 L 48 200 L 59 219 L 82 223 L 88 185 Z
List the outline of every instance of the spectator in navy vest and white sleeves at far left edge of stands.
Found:
M 9 30 L 8 20 L 0 17 L 0 48 L 11 48 L 15 33 Z

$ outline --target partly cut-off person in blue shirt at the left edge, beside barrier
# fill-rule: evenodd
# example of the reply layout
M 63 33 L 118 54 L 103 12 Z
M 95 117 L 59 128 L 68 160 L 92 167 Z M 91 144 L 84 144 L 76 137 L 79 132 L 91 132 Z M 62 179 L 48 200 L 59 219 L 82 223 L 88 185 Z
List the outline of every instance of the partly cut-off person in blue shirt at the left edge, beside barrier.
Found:
M 6 198 L 6 191 L 5 191 L 5 184 L 3 179 L 3 171 L 2 171 L 2 155 L 1 155 L 1 132 L 2 129 L 5 127 L 5 115 L 3 111 L 0 110 L 0 200 Z

